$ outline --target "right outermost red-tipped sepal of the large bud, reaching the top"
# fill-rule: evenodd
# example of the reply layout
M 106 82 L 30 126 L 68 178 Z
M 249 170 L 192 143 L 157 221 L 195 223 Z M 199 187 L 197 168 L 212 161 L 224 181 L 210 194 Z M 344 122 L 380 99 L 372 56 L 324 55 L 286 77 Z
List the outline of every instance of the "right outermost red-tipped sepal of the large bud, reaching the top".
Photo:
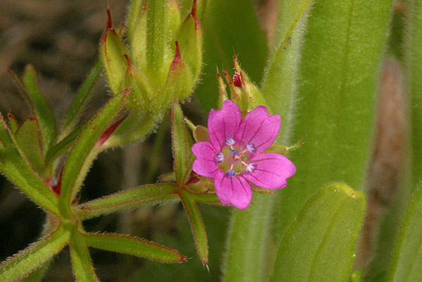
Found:
M 180 54 L 192 73 L 192 81 L 197 82 L 202 67 L 202 35 L 197 18 L 197 1 L 194 0 L 191 13 L 180 25 L 175 37 L 179 42 Z

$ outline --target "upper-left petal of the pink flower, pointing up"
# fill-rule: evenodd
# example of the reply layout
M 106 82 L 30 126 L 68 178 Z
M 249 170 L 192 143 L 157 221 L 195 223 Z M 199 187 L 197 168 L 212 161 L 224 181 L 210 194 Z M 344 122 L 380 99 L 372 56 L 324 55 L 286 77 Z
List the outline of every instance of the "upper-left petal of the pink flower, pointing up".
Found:
M 208 117 L 208 132 L 216 151 L 221 152 L 225 140 L 235 138 L 241 122 L 242 114 L 240 114 L 239 106 L 230 100 L 224 101 L 221 111 L 211 110 Z

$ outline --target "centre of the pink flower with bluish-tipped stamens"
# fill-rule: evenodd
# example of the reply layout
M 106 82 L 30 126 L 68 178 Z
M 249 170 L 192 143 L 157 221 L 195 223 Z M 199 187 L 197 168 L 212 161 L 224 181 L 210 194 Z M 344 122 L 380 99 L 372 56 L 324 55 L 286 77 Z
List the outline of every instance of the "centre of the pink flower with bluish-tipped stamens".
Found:
M 226 176 L 235 176 L 240 173 L 252 173 L 256 164 L 250 163 L 249 158 L 256 151 L 252 143 L 246 148 L 235 147 L 236 141 L 233 138 L 225 140 L 225 146 L 215 156 L 218 166 L 225 171 Z

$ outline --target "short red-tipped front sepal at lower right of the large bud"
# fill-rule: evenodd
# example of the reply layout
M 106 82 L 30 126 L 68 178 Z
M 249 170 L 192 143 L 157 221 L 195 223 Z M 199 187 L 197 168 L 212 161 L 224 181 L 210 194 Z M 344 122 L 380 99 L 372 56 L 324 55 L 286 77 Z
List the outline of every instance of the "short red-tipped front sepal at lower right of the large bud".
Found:
M 168 70 L 163 94 L 168 95 L 168 93 L 171 93 L 171 98 L 182 100 L 192 92 L 192 75 L 180 56 L 178 42 L 175 43 L 175 46 L 175 57 Z

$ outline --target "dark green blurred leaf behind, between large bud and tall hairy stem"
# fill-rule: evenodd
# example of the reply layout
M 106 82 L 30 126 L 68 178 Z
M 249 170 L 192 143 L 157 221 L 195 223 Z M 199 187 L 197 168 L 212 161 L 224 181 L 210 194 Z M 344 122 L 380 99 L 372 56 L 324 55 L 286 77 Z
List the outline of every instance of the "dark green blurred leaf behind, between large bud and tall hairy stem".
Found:
M 212 0 L 206 1 L 206 6 L 201 21 L 204 69 L 195 93 L 208 112 L 217 106 L 217 69 L 231 70 L 237 55 L 249 78 L 259 82 L 268 47 L 252 0 Z

